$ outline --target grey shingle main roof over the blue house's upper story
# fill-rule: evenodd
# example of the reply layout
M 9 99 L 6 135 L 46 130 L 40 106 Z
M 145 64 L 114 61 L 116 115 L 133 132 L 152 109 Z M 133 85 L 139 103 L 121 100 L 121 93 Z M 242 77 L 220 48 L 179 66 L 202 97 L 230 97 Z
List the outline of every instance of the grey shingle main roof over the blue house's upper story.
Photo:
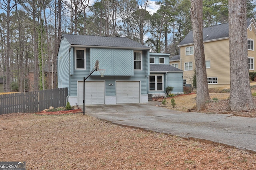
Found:
M 63 37 L 71 45 L 87 45 L 87 46 L 98 46 L 98 47 L 122 47 L 132 49 L 147 49 L 145 45 L 137 43 L 128 38 L 124 37 L 103 37 L 93 35 L 74 35 L 74 34 L 62 34 Z

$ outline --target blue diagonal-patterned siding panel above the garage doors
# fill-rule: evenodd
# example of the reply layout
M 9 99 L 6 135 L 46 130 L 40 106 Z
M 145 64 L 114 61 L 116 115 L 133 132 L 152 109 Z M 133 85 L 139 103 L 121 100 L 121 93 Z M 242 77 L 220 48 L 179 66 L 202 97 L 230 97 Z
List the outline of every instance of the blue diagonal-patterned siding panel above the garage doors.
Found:
M 133 75 L 133 50 L 125 49 L 91 49 L 90 55 L 94 66 L 96 60 L 100 63 L 100 69 L 106 69 L 106 76 L 132 76 Z M 92 75 L 100 75 L 95 72 Z

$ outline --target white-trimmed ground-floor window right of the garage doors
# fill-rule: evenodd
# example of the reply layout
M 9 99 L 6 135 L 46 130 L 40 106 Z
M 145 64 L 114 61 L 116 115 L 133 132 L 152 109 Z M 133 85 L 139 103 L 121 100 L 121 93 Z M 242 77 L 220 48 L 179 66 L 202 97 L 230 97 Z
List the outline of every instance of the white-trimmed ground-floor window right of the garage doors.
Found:
M 149 76 L 149 91 L 164 91 L 164 76 L 150 75 Z

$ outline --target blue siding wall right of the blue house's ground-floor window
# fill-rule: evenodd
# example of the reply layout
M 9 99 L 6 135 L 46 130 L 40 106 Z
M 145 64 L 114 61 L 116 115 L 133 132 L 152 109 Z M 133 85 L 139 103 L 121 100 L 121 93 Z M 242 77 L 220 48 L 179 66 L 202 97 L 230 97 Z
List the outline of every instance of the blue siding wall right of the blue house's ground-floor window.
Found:
M 183 73 L 182 72 L 168 72 L 167 86 L 173 87 L 172 93 L 183 93 Z

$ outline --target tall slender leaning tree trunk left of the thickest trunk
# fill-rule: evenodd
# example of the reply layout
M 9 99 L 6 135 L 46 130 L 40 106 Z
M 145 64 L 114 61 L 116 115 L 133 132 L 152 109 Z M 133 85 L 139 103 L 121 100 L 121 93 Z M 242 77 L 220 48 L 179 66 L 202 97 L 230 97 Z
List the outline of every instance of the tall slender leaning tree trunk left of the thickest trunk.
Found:
M 208 92 L 206 75 L 204 42 L 203 42 L 203 2 L 191 0 L 191 21 L 194 40 L 194 56 L 196 64 L 196 108 L 197 111 L 206 108 L 206 101 L 211 100 Z

